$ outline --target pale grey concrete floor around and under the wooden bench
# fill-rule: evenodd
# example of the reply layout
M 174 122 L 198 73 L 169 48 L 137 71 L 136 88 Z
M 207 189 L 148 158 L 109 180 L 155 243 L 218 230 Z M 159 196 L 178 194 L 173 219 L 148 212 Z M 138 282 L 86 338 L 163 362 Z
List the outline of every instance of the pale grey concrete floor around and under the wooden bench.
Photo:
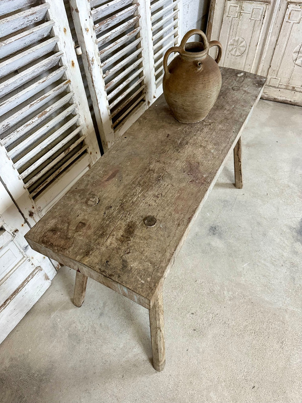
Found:
M 0 346 L 0 401 L 302 402 L 302 108 L 261 100 L 243 133 L 244 189 L 223 170 L 165 285 L 167 364 L 148 312 L 75 272 Z

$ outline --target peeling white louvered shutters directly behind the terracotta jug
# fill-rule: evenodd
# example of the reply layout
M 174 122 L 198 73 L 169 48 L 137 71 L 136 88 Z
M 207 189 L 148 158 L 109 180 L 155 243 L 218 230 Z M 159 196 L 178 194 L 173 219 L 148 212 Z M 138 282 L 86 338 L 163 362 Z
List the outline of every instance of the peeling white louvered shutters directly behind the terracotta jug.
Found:
M 106 151 L 162 92 L 180 0 L 69 0 Z

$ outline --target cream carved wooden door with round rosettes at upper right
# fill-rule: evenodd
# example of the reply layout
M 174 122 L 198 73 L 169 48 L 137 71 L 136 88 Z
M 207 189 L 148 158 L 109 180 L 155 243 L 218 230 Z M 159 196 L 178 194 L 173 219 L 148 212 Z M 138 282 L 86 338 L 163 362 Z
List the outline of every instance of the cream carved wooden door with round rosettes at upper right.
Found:
M 207 35 L 221 65 L 268 77 L 263 98 L 302 105 L 301 1 L 212 0 Z

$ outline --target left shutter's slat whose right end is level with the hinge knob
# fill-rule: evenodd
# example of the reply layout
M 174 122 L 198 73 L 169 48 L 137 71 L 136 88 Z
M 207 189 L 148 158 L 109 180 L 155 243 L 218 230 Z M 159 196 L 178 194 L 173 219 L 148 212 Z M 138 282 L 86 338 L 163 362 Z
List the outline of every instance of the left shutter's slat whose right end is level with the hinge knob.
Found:
M 24 70 L 23 72 L 17 74 L 11 79 L 5 81 L 0 84 L 0 98 L 4 95 L 7 95 L 9 92 L 15 90 L 20 87 L 22 84 L 27 83 L 28 81 L 34 79 L 39 76 L 45 70 L 51 69 L 55 64 L 58 63 L 62 56 L 63 52 L 57 52 L 44 60 L 41 60 L 39 63 L 33 65 L 29 69 Z

